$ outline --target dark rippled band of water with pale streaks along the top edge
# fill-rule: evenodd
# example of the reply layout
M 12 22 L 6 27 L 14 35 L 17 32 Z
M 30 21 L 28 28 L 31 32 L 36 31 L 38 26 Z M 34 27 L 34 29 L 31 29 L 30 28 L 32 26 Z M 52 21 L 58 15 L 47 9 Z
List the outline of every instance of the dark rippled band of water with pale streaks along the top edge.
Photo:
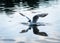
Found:
M 0 12 L 5 12 L 9 15 L 10 13 L 17 12 L 15 9 L 34 10 L 36 8 L 40 8 L 40 6 L 48 7 L 48 6 L 51 6 L 52 4 L 52 3 L 49 3 L 49 1 L 50 0 L 42 0 L 42 1 L 41 0 L 7 0 L 7 1 L 1 0 L 0 1 Z M 53 1 L 54 0 L 52 0 L 52 2 Z

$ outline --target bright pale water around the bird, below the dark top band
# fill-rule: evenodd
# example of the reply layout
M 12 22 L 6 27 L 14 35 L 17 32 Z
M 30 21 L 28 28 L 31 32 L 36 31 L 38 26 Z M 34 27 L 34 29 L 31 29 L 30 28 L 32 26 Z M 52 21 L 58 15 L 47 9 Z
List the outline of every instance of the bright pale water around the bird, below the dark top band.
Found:
M 16 8 L 18 9 L 14 9 L 16 12 L 12 13 L 13 15 L 7 16 L 5 11 L 0 13 L 0 43 L 60 43 L 60 5 L 30 11 L 23 9 L 20 10 L 20 8 L 17 6 Z M 19 15 L 20 12 L 31 19 L 38 13 L 48 13 L 49 15 L 47 17 L 43 19 L 39 18 L 38 20 L 38 22 L 41 21 L 51 24 L 44 27 L 38 27 L 40 31 L 46 32 L 48 34 L 48 37 L 35 35 L 33 34 L 32 29 L 27 33 L 19 33 L 22 29 L 28 28 L 28 26 L 20 24 L 21 22 L 28 21 L 25 17 Z M 11 12 L 7 14 L 11 14 Z

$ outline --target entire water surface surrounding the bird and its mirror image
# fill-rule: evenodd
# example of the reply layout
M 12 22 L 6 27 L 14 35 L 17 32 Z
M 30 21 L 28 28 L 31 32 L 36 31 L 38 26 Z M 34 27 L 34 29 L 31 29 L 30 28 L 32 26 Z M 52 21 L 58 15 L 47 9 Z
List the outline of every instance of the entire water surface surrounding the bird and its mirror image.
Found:
M 0 43 L 60 43 L 60 1 L 33 1 L 0 0 Z M 46 32 L 48 37 L 35 35 L 32 29 L 27 33 L 19 33 L 28 28 L 20 24 L 28 20 L 19 13 L 30 19 L 36 14 L 48 13 L 47 17 L 38 20 L 49 23 L 47 26 L 38 27 L 40 31 Z

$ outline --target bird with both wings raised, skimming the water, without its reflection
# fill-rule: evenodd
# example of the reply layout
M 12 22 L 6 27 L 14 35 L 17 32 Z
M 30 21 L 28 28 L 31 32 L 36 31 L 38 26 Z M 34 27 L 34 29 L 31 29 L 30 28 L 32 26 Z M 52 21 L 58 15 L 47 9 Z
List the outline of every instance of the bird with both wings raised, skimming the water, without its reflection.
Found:
M 22 13 L 19 13 L 20 15 L 26 17 L 28 19 L 28 22 L 29 22 L 29 26 L 33 26 L 33 25 L 36 25 L 36 26 L 44 26 L 45 24 L 43 23 L 38 23 L 37 20 L 39 19 L 39 17 L 45 17 L 48 15 L 48 13 L 43 13 L 43 14 L 37 14 L 33 17 L 33 20 L 31 20 L 29 17 L 25 16 L 24 14 Z M 24 24 L 24 25 L 28 25 L 28 23 L 21 23 L 21 24 Z

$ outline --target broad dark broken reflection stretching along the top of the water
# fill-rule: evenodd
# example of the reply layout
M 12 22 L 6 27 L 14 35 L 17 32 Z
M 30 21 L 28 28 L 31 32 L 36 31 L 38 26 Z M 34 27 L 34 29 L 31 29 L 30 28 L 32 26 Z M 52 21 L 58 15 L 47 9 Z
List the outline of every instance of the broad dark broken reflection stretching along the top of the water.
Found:
M 48 3 L 46 3 L 46 1 Z M 8 12 L 14 13 L 14 11 L 11 10 L 11 8 L 15 7 L 15 5 L 17 5 L 18 7 L 25 7 L 25 8 L 30 8 L 33 10 L 34 8 L 38 8 L 40 6 L 41 2 L 44 2 L 49 5 L 49 1 L 50 0 L 7 0 L 7 1 L 0 0 L 0 2 L 1 2 L 0 3 L 0 12 L 5 11 L 6 13 L 8 13 Z M 8 8 L 8 10 L 6 8 Z

